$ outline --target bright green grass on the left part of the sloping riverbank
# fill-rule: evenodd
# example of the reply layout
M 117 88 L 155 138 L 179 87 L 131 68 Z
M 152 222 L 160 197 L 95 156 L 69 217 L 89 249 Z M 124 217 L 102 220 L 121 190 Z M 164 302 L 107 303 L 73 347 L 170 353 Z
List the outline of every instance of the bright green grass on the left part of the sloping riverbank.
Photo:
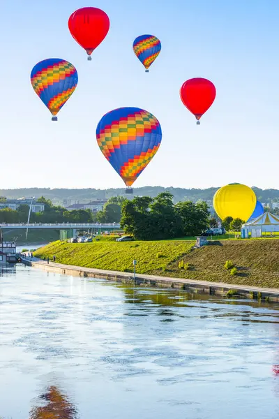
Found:
M 133 272 L 133 259 L 137 260 L 137 272 L 150 274 L 165 270 L 191 250 L 195 242 L 110 242 L 93 243 L 54 242 L 38 249 L 38 258 L 56 256 L 56 262 L 66 265 L 95 267 L 96 269 Z M 158 257 L 160 254 L 160 257 Z M 167 270 L 164 271 L 167 274 Z

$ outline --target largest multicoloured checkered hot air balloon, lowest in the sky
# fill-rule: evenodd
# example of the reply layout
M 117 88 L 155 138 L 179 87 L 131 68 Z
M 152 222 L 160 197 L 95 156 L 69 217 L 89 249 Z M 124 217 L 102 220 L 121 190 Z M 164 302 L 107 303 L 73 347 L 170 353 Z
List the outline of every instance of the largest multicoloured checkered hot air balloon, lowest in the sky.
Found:
M 160 147 L 158 119 L 140 108 L 115 109 L 100 120 L 96 137 L 101 152 L 128 186 L 126 193 L 133 193 L 129 187 Z

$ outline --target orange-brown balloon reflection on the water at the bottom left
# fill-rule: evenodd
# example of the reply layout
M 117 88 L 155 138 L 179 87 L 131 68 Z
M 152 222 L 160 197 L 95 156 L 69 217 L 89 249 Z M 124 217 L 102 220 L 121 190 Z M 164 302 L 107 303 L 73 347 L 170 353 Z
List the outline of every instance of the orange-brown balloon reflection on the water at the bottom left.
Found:
M 77 409 L 56 386 L 47 388 L 39 399 L 44 406 L 33 407 L 30 419 L 77 419 Z

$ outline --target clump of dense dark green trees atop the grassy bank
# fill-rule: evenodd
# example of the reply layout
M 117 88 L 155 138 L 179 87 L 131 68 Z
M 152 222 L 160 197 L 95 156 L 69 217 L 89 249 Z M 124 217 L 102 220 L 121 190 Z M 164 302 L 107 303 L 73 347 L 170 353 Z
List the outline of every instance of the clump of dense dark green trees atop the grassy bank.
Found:
M 171 193 L 125 200 L 121 228 L 138 240 L 159 240 L 198 235 L 209 225 L 206 203 L 190 201 L 174 205 Z

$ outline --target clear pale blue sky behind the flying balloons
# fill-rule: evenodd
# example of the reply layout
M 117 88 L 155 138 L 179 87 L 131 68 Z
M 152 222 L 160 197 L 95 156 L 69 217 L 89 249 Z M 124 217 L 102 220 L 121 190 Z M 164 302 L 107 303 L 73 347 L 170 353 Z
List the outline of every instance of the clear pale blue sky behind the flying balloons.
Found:
M 91 62 L 68 31 L 68 17 L 84 6 L 102 8 L 111 22 Z M 134 186 L 278 188 L 278 15 L 277 0 L 4 1 L 1 188 L 122 187 L 96 142 L 100 118 L 121 106 L 152 112 L 163 129 Z M 149 73 L 132 50 L 141 34 L 162 43 Z M 30 83 L 33 66 L 52 57 L 79 74 L 56 123 Z M 193 77 L 217 89 L 200 126 L 179 97 Z

